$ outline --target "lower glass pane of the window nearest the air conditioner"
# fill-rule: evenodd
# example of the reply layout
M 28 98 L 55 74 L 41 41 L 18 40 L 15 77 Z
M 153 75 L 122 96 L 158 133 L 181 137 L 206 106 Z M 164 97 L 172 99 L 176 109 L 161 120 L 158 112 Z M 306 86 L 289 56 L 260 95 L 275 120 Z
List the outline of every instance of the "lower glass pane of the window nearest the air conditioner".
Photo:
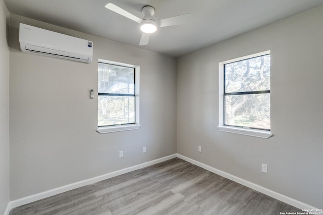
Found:
M 98 126 L 135 123 L 134 96 L 98 96 Z

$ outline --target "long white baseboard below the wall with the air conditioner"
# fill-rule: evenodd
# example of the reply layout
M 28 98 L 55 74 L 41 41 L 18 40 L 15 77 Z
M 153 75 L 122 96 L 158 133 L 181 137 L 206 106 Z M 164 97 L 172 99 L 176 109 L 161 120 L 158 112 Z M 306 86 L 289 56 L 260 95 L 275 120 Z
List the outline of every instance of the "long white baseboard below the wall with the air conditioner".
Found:
M 154 165 L 154 164 L 158 164 L 160 162 L 167 161 L 167 160 L 170 160 L 170 159 L 173 159 L 173 158 L 176 158 L 176 157 L 177 157 L 177 154 L 166 156 L 166 157 L 159 158 L 159 159 L 156 159 L 156 160 L 153 160 L 153 161 L 148 161 L 148 162 L 145 162 L 145 163 L 142 163 L 142 164 L 138 164 L 138 165 L 128 167 L 128 168 L 125 168 L 125 169 L 121 169 L 121 170 L 117 170 L 117 171 L 107 173 L 107 174 L 104 174 L 104 175 L 101 175 L 101 176 L 97 176 L 97 177 L 94 177 L 94 178 L 90 178 L 90 179 L 86 179 L 86 180 L 83 180 L 83 181 L 75 182 L 75 183 L 68 184 L 68 185 L 65 185 L 65 186 L 62 186 L 62 187 L 58 187 L 58 188 L 55 188 L 55 189 L 47 190 L 47 191 L 44 191 L 44 192 L 41 192 L 41 193 L 36 193 L 34 195 L 30 195 L 30 196 L 26 196 L 26 197 L 23 197 L 23 198 L 20 198 L 20 199 L 17 199 L 17 200 L 10 201 L 7 208 L 6 208 L 6 210 L 5 210 L 4 215 L 9 215 L 10 210 L 15 208 L 15 207 L 19 207 L 21 205 L 28 204 L 30 202 L 37 201 L 37 200 L 40 200 L 40 199 L 43 199 L 43 198 L 47 198 L 49 196 L 57 195 L 57 194 L 60 194 L 60 193 L 66 192 L 66 191 L 70 191 L 70 190 L 73 190 L 73 189 L 76 189 L 76 188 L 79 188 L 79 187 L 82 187 L 82 186 L 85 186 L 85 185 L 93 184 L 93 183 L 96 183 L 96 182 L 99 182 L 99 181 L 102 181 L 102 180 L 105 180 L 105 179 L 109 179 L 109 178 L 112 178 L 112 177 L 115 177 L 115 176 L 118 176 L 118 175 L 122 175 L 122 174 L 125 174 L 125 173 L 128 173 L 128 172 L 132 172 L 134 170 L 138 170 L 138 169 L 141 169 L 141 168 L 144 168 L 144 167 L 148 167 L 148 166 L 151 166 L 151 165 Z

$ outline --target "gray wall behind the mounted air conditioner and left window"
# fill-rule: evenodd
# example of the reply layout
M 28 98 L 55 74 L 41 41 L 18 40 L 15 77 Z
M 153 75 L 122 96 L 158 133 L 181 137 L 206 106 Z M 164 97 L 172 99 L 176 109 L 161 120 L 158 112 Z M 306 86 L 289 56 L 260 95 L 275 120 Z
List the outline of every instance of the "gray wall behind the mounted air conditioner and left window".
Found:
M 20 22 L 93 41 L 92 63 L 22 53 Z M 10 23 L 11 200 L 176 153 L 175 58 L 13 14 Z M 98 58 L 140 66 L 138 130 L 95 131 Z

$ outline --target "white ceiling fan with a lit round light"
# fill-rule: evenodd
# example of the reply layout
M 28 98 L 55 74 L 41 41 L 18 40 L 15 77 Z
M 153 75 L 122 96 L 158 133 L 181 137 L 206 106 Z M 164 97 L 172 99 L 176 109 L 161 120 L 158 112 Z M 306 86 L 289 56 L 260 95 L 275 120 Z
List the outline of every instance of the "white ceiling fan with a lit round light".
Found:
M 155 9 L 151 6 L 144 6 L 141 11 L 143 13 L 143 18 L 140 19 L 135 15 L 129 13 L 128 11 L 123 10 L 122 8 L 108 3 L 105 5 L 105 8 L 120 14 L 128 19 L 131 19 L 140 24 L 140 29 L 142 31 L 141 39 L 139 45 L 147 45 L 149 41 L 149 36 L 151 33 L 157 30 L 157 25 L 153 15 L 155 14 Z M 183 14 L 175 17 L 165 18 L 159 20 L 157 23 L 159 24 L 158 27 L 167 27 L 167 26 L 174 26 L 174 25 L 182 25 L 189 22 L 189 18 L 191 14 Z

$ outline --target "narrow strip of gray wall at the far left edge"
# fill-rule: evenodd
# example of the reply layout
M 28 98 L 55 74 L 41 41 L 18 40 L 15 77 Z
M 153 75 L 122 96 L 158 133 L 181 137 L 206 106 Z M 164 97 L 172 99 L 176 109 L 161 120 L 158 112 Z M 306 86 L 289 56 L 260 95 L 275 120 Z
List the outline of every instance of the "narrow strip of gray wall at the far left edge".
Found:
M 9 202 L 9 12 L 0 1 L 0 214 Z

